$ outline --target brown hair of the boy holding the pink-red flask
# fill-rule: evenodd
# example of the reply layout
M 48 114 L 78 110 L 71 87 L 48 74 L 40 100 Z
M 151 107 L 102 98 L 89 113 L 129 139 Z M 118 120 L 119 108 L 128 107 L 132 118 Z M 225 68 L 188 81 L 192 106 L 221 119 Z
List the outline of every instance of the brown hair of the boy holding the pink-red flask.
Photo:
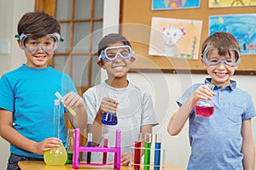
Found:
M 202 43 L 201 54 L 206 48 L 218 48 L 219 54 L 228 53 L 230 48 L 237 48 L 240 51 L 239 43 L 229 32 L 215 32 Z

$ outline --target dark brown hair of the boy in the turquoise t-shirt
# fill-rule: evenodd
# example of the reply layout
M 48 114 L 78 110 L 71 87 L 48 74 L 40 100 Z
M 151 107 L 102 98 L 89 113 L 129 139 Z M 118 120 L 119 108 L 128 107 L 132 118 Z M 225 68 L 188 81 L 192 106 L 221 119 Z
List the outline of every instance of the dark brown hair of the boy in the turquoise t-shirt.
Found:
M 18 34 L 33 34 L 43 37 L 51 33 L 61 33 L 58 20 L 44 12 L 29 12 L 24 14 L 18 23 Z

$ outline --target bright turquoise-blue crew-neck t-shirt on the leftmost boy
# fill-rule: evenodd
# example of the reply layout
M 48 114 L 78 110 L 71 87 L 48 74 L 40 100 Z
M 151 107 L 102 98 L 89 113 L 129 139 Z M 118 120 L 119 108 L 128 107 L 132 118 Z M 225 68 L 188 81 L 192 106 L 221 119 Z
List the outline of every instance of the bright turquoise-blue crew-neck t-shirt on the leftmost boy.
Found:
M 34 69 L 21 65 L 0 79 L 0 108 L 13 113 L 14 128 L 28 139 L 40 142 L 53 137 L 55 92 L 62 96 L 77 92 L 72 79 L 52 67 Z M 66 127 L 61 106 L 60 139 L 66 142 Z M 11 153 L 19 156 L 43 158 L 11 144 Z

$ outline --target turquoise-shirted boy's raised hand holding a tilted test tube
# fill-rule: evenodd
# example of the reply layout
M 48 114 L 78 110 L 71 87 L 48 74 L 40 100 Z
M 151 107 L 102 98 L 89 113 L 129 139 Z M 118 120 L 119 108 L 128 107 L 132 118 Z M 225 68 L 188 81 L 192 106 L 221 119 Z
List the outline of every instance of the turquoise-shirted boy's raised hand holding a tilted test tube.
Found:
M 65 107 L 82 107 L 84 106 L 84 100 L 79 96 L 79 94 L 76 94 L 74 92 L 67 93 L 63 99 L 62 99 L 62 105 Z

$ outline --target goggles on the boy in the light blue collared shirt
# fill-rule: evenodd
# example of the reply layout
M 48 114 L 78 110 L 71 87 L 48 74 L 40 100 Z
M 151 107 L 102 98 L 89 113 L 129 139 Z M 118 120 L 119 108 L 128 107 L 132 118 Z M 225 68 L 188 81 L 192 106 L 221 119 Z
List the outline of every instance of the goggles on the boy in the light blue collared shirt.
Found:
M 237 48 L 230 48 L 223 55 L 220 55 L 218 48 L 208 48 L 202 54 L 203 62 L 206 65 L 218 65 L 223 62 L 225 65 L 237 66 L 241 61 L 241 54 Z

